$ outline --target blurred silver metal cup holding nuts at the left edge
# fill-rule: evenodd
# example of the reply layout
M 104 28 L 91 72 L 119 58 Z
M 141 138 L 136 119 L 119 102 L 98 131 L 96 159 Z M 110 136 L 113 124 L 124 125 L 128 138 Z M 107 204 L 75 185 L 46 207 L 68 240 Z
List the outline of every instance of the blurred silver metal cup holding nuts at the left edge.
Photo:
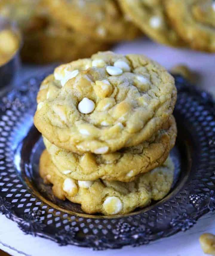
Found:
M 0 88 L 13 83 L 16 73 L 20 67 L 19 52 L 21 48 L 21 33 L 16 25 L 13 22 L 0 17 L 0 31 L 3 29 L 10 29 L 17 35 L 19 39 L 19 47 L 7 62 L 0 65 Z

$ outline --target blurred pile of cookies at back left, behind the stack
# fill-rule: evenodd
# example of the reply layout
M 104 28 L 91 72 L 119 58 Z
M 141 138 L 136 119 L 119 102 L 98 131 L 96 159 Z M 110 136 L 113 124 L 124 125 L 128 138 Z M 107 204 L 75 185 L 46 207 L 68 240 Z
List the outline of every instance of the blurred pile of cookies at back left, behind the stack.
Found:
M 38 64 L 90 57 L 140 34 L 113 0 L 2 0 L 0 16 L 19 25 L 22 60 Z

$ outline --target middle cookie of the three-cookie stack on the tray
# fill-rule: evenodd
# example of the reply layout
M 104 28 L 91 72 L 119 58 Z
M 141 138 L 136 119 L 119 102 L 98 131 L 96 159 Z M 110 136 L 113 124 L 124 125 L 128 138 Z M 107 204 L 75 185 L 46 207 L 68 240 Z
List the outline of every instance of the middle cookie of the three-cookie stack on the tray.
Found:
M 165 162 L 175 144 L 176 133 L 176 123 L 171 116 L 165 127 L 150 140 L 115 153 L 96 155 L 88 152 L 78 155 L 56 147 L 45 138 L 44 144 L 59 171 L 75 180 L 102 178 L 128 182 Z

